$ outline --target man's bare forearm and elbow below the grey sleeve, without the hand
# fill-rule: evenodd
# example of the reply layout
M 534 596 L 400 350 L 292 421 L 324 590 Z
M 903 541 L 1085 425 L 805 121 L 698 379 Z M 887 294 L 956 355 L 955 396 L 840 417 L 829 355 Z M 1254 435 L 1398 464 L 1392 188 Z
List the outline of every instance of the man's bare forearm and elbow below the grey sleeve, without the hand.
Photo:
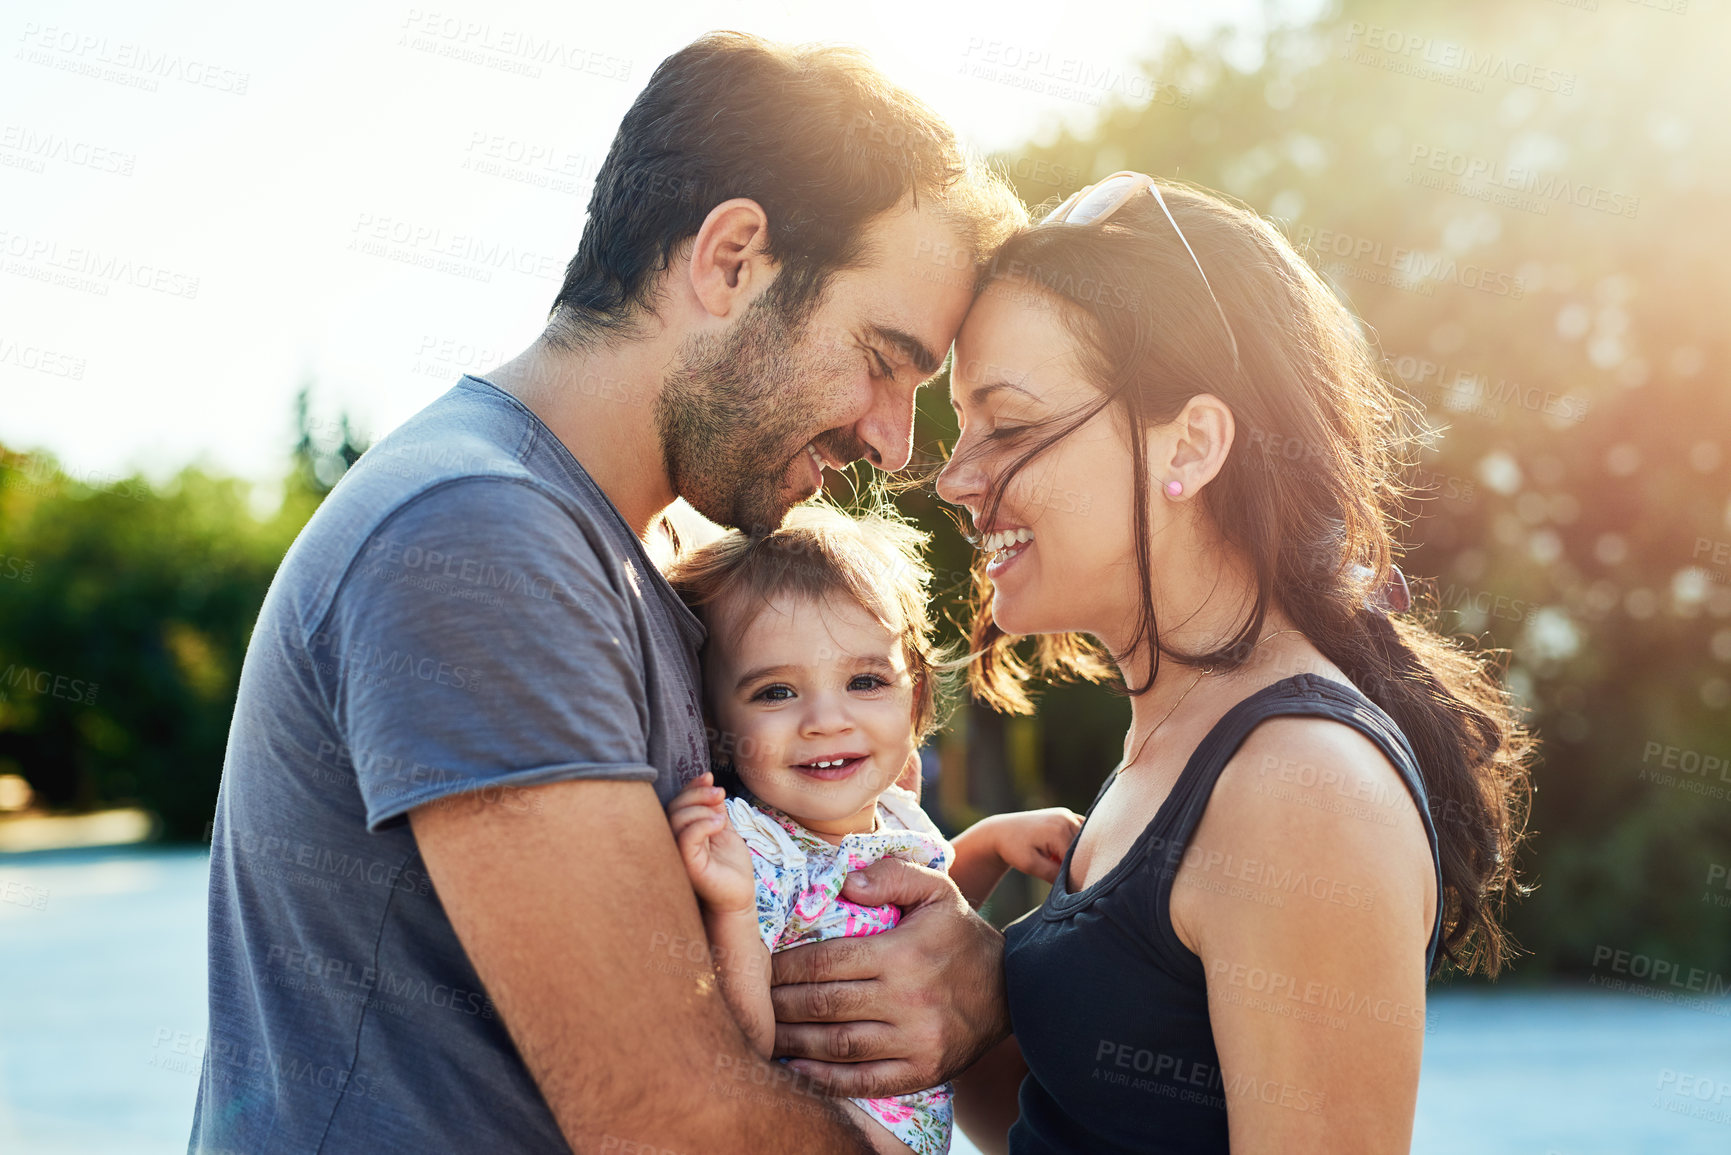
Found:
M 701 942 L 703 923 L 654 790 L 563 781 L 523 795 L 535 805 L 454 797 L 410 823 L 571 1148 L 872 1153 L 838 1103 L 756 1053 L 713 985 L 656 965 L 658 932 Z

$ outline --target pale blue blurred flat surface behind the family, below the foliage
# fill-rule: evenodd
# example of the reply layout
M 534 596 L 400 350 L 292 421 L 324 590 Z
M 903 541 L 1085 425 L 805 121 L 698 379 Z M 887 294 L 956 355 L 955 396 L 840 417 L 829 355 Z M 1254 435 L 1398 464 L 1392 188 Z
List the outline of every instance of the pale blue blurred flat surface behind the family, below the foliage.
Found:
M 199 850 L 0 857 L 0 1152 L 185 1152 L 204 876 Z M 1430 1016 L 1418 1155 L 1731 1152 L 1731 1016 L 1594 990 L 1440 992 Z

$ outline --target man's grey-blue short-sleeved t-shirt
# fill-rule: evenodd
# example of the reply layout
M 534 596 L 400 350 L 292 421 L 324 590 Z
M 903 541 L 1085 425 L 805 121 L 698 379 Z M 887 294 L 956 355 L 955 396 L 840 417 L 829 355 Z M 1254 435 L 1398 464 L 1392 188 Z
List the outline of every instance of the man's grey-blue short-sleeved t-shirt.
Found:
M 241 672 L 192 1152 L 569 1150 L 407 812 L 476 791 L 526 812 L 519 788 L 568 778 L 666 802 L 710 769 L 703 636 L 493 384 L 464 377 L 362 455 L 284 558 Z

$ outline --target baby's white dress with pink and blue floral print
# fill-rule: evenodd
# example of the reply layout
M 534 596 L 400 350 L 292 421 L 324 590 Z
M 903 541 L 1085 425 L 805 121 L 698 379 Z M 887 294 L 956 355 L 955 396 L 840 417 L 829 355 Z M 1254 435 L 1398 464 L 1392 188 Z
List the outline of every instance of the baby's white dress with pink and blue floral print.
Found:
M 890 786 L 878 797 L 876 829 L 845 835 L 841 845 L 824 842 L 765 802 L 732 797 L 727 817 L 751 849 L 758 933 L 772 952 L 824 939 L 876 935 L 900 921 L 900 907 L 845 900 L 841 883 L 848 871 L 886 857 L 947 871 L 956 859 L 954 847 L 919 809 L 919 800 L 900 786 Z M 949 1084 L 852 1101 L 919 1155 L 945 1155 L 950 1150 L 954 1105 Z

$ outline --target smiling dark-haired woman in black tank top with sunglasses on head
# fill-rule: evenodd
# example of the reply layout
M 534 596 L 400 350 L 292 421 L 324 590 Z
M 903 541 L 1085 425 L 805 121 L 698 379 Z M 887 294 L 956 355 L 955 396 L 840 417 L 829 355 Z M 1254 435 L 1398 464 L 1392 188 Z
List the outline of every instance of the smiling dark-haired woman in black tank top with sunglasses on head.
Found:
M 1406 1152 L 1428 975 L 1506 952 L 1528 739 L 1399 616 L 1412 423 L 1354 317 L 1253 213 L 1118 173 L 1001 251 L 950 398 L 975 693 L 1132 700 L 957 1119 L 1016 1155 Z

